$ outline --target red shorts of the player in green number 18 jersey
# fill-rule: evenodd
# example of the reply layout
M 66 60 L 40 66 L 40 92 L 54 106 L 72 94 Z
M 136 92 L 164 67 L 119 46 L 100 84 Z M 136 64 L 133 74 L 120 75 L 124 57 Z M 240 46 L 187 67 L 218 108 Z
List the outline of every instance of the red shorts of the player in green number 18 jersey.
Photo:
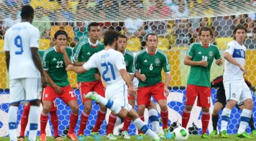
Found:
M 210 87 L 187 85 L 186 105 L 193 106 L 197 98 L 197 106 L 210 107 Z

